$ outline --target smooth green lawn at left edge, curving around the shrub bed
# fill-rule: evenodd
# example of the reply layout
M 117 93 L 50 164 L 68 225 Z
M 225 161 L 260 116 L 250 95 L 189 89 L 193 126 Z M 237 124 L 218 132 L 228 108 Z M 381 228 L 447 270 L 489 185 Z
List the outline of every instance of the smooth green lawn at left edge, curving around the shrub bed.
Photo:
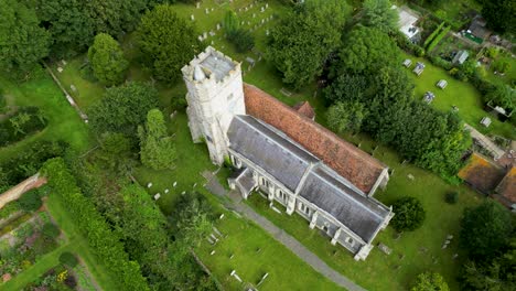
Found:
M 12 96 L 17 106 L 37 106 L 49 120 L 47 127 L 12 146 L 0 148 L 0 160 L 23 151 L 36 140 L 64 140 L 72 148 L 84 151 L 90 143 L 87 126 L 68 105 L 52 78 L 45 74 L 26 83 L 17 84 L 0 76 L 0 87 Z

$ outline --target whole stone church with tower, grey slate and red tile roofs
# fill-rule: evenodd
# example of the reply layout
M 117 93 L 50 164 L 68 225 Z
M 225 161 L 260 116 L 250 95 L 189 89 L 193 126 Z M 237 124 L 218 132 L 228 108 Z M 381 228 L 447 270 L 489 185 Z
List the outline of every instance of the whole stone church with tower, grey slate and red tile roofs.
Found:
M 292 108 L 244 84 L 240 63 L 212 46 L 182 73 L 192 139 L 207 144 L 213 163 L 232 162 L 229 186 L 297 212 L 365 260 L 394 216 L 374 198 L 388 168 L 313 121 L 308 104 Z

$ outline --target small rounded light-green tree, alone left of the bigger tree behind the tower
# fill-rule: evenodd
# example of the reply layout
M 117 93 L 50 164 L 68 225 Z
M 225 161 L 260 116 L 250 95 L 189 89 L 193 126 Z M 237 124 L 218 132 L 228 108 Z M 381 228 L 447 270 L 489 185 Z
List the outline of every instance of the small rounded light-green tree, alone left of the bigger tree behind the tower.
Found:
M 112 86 L 123 82 L 129 62 L 111 35 L 99 33 L 95 36 L 88 50 L 88 60 L 95 77 L 104 85 Z

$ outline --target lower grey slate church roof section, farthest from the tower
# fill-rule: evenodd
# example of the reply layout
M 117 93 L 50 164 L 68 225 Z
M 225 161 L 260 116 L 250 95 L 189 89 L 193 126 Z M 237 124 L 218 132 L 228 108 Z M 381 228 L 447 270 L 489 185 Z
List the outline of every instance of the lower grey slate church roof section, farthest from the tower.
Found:
M 337 179 L 325 165 L 310 172 L 299 194 L 367 242 L 389 215 L 389 209 Z

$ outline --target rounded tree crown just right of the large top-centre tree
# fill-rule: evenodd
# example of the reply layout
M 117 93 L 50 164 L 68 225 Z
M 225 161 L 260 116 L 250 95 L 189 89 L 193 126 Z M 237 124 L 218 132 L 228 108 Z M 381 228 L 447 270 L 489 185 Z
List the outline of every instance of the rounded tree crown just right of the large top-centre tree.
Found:
M 398 67 L 401 53 L 396 43 L 374 28 L 355 26 L 345 37 L 335 72 L 373 74 L 381 67 Z

